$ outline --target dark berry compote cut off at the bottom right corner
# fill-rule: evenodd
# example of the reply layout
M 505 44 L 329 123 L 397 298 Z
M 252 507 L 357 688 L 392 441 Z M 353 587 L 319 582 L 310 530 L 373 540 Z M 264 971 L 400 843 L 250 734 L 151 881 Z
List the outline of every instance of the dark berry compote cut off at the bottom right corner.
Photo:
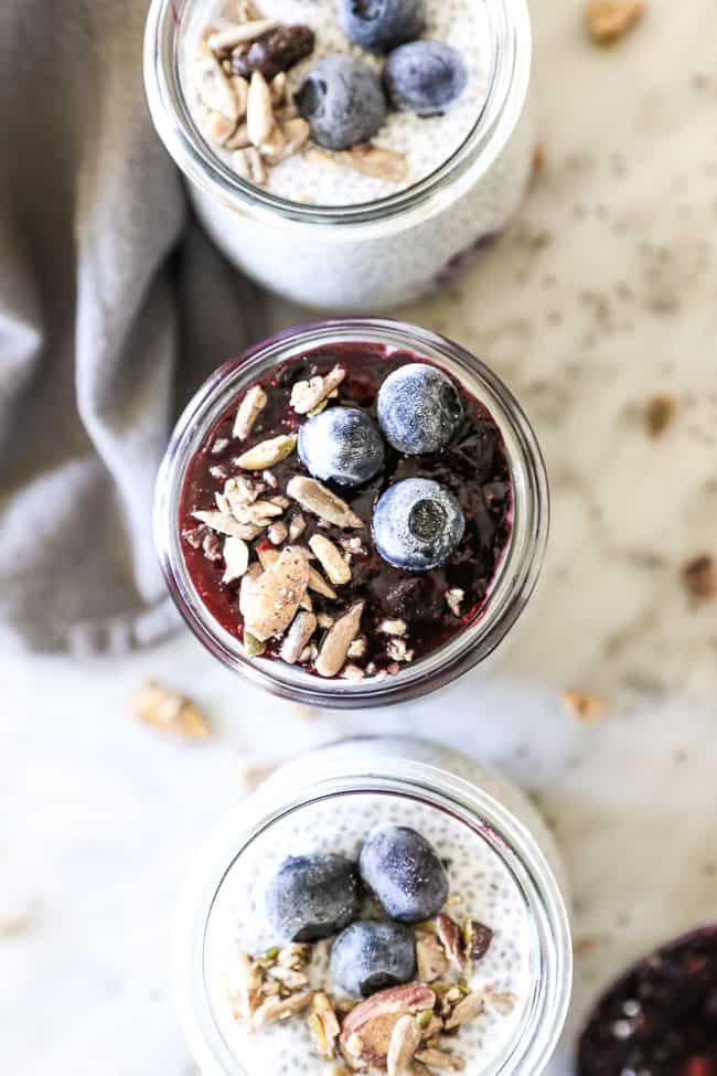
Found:
M 657 949 L 599 1001 L 578 1076 L 717 1076 L 717 926 Z

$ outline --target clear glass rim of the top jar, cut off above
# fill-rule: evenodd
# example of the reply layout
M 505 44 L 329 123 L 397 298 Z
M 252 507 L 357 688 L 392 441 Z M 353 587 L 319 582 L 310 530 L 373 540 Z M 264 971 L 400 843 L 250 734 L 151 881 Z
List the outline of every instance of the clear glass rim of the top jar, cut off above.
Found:
M 213 153 L 194 124 L 176 61 L 176 28 L 191 0 L 152 0 L 145 31 L 145 87 L 154 127 L 185 175 L 229 209 L 283 226 L 322 227 L 333 239 L 356 227 L 404 228 L 442 212 L 493 166 L 517 124 L 527 94 L 532 35 L 527 0 L 482 0 L 493 26 L 486 99 L 458 149 L 404 191 L 346 206 L 304 205 L 242 179 Z M 499 47 L 499 41 L 504 47 Z

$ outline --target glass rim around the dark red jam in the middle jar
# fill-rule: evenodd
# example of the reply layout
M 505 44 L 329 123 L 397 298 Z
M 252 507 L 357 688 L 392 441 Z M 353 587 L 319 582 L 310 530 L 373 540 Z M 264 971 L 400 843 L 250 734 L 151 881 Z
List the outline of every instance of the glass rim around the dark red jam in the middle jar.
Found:
M 383 344 L 426 358 L 483 403 L 497 425 L 513 484 L 512 533 L 485 608 L 453 639 L 396 677 L 360 683 L 320 680 L 299 665 L 248 658 L 208 612 L 182 553 L 180 502 L 189 465 L 232 401 L 295 355 L 327 344 Z M 496 375 L 458 344 L 398 321 L 318 321 L 280 332 L 220 367 L 197 391 L 172 434 L 157 480 L 154 539 L 169 590 L 196 638 L 231 669 L 285 699 L 333 709 L 386 705 L 425 695 L 483 661 L 515 624 L 537 583 L 548 533 L 545 464 L 517 401 Z

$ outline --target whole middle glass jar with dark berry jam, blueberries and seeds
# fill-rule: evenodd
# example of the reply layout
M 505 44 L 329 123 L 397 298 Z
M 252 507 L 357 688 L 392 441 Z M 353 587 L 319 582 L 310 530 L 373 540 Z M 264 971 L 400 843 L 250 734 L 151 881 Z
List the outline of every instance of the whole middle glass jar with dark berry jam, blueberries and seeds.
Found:
M 507 388 L 426 330 L 301 326 L 180 419 L 156 535 L 197 638 L 277 694 L 378 705 L 504 638 L 537 580 L 544 464 Z

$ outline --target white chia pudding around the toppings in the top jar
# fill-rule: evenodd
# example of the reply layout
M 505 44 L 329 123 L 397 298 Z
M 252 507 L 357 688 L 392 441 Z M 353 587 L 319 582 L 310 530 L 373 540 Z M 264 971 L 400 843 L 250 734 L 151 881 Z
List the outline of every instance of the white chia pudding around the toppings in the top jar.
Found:
M 381 78 L 385 55 L 377 55 L 352 43 L 338 18 L 339 2 L 341 0 L 255 0 L 257 20 L 276 20 L 285 26 L 308 26 L 314 35 L 311 53 L 286 72 L 286 82 L 281 78 L 281 83 L 285 83 L 281 105 L 275 109 L 280 117 L 288 115 L 289 110 L 295 111 L 291 103 L 304 76 L 324 56 L 341 54 L 357 57 Z M 224 143 L 222 136 L 231 125 L 220 124 L 217 127 L 216 124 L 206 122 L 207 109 L 200 92 L 201 84 L 197 89 L 197 79 L 192 77 L 197 49 L 201 57 L 202 43 L 207 35 L 208 40 L 216 40 L 212 32 L 218 35 L 223 26 L 231 25 L 229 19 L 235 10 L 235 4 L 218 4 L 214 10 L 210 7 L 204 12 L 195 12 L 192 32 L 188 34 L 185 43 L 185 77 L 194 119 L 210 147 L 228 167 L 238 167 L 243 174 L 246 151 L 227 148 Z M 303 204 L 344 206 L 373 202 L 419 182 L 456 152 L 485 105 L 491 66 L 486 49 L 490 42 L 488 13 L 477 0 L 427 0 L 425 10 L 426 22 L 420 40 L 452 46 L 464 63 L 467 81 L 459 96 L 439 115 L 419 116 L 407 109 L 389 109 L 386 113 L 383 124 L 371 139 L 371 146 L 394 155 L 386 159 L 386 174 L 363 174 L 355 167 L 356 163 L 361 167 L 361 156 L 356 158 L 351 153 L 319 148 L 309 135 L 299 151 L 287 155 L 276 164 L 271 155 L 263 153 L 259 148 L 259 156 L 266 166 L 260 173 L 265 175 L 261 187 L 287 201 Z M 226 51 L 220 51 L 218 57 L 222 55 L 225 56 L 227 70 L 231 70 Z M 231 76 L 231 81 L 233 78 Z M 236 82 L 233 85 L 236 86 Z M 243 98 L 243 88 L 239 94 Z M 242 118 L 237 126 L 240 126 Z M 236 138 L 232 135 L 226 140 L 234 145 Z M 363 156 L 365 158 L 366 153 Z M 382 171 L 381 158 L 377 160 L 377 170 Z M 247 178 L 254 177 L 249 174 Z

